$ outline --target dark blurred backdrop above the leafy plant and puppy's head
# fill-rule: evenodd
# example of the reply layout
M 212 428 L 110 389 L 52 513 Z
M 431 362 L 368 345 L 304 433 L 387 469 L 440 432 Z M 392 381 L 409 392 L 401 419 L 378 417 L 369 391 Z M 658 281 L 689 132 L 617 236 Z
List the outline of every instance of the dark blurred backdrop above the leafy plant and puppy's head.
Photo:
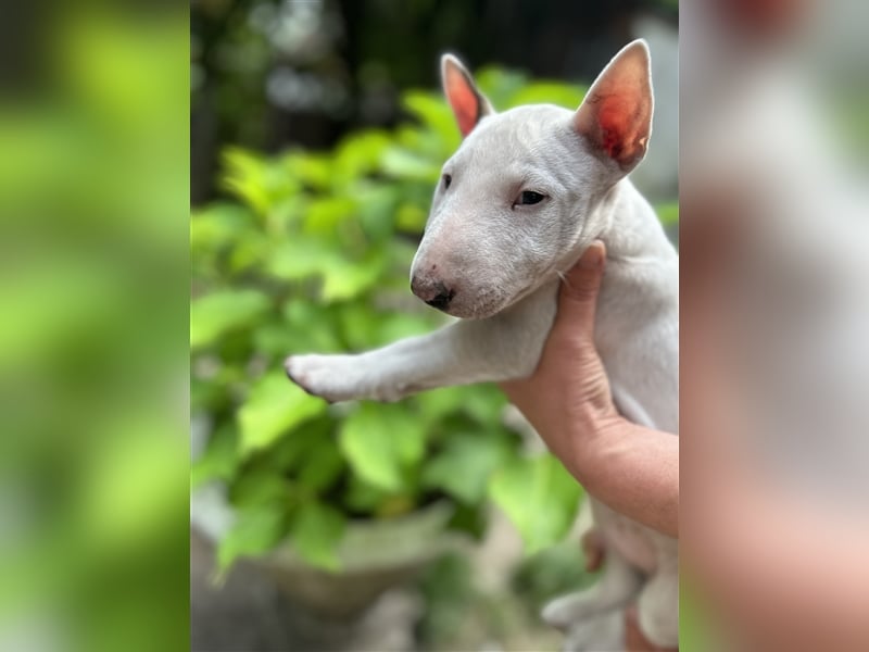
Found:
M 677 25 L 676 0 L 194 0 L 192 201 L 218 192 L 226 145 L 325 149 L 354 128 L 395 126 L 406 116 L 402 91 L 439 88 L 445 51 L 474 68 L 499 64 L 533 78 L 589 83 L 619 48 L 644 36 L 656 54 L 656 82 L 666 85 L 655 129 L 675 141 Z

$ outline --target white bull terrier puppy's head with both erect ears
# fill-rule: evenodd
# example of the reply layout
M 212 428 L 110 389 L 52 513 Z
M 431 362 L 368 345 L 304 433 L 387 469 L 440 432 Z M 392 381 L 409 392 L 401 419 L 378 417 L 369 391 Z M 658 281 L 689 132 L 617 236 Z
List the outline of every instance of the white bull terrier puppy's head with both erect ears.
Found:
M 451 315 L 488 317 L 566 271 L 603 229 L 604 198 L 645 155 L 648 50 L 622 49 L 577 111 L 495 113 L 450 54 L 441 78 L 465 139 L 443 165 L 411 287 Z

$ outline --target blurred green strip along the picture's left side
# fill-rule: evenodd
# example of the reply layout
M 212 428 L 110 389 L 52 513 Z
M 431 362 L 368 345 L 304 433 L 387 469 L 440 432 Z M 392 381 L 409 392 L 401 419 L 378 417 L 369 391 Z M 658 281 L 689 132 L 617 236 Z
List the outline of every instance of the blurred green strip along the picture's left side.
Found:
M 0 649 L 185 649 L 186 17 L 22 7 L 7 57 L 42 75 L 0 96 Z

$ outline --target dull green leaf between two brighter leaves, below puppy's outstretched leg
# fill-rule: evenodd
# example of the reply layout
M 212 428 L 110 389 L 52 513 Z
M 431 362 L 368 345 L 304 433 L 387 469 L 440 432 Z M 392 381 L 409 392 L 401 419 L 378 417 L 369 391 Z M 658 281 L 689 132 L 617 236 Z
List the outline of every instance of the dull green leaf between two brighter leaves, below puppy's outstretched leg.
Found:
M 478 504 L 486 496 L 489 476 L 508 454 L 501 439 L 479 432 L 456 434 L 446 448 L 426 464 L 423 484 L 443 489 L 467 504 Z

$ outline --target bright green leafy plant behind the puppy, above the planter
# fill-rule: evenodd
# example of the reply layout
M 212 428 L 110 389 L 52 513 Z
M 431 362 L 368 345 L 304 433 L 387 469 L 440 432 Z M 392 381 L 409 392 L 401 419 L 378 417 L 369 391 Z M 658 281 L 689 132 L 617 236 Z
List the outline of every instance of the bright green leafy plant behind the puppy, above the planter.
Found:
M 582 99 L 498 68 L 478 79 L 501 108 Z M 444 324 L 411 296 L 407 271 L 459 134 L 439 95 L 406 92 L 403 108 L 407 123 L 353 133 L 330 152 L 227 150 L 234 200 L 192 216 L 192 402 L 212 428 L 192 478 L 229 486 L 238 519 L 221 542 L 224 570 L 282 541 L 337 569 L 349 519 L 436 501 L 475 535 L 493 501 L 529 552 L 572 523 L 580 487 L 554 457 L 526 453 L 493 386 L 327 406 L 284 376 L 290 353 L 360 351 Z

